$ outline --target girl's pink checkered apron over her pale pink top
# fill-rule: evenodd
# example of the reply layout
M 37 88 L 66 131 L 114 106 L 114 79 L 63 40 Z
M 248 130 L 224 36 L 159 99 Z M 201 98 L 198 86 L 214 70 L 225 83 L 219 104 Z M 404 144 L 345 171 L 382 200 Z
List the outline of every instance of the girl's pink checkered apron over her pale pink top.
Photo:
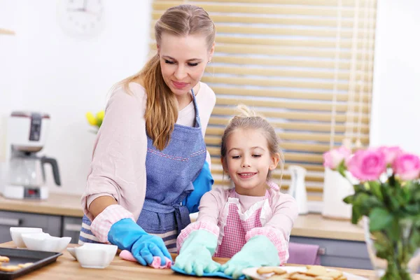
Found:
M 235 192 L 230 192 L 229 197 L 236 197 Z M 266 200 L 269 198 L 268 192 L 265 193 Z M 218 246 L 217 253 L 214 257 L 232 258 L 241 248 L 246 244 L 246 232 L 253 228 L 261 228 L 261 207 L 251 214 L 245 221 L 241 220 L 239 216 L 240 207 L 235 202 L 229 202 L 225 207 L 229 207 L 228 216 L 226 217 L 226 224 L 224 228 L 224 235 L 221 244 Z M 224 211 L 224 209 L 223 209 Z

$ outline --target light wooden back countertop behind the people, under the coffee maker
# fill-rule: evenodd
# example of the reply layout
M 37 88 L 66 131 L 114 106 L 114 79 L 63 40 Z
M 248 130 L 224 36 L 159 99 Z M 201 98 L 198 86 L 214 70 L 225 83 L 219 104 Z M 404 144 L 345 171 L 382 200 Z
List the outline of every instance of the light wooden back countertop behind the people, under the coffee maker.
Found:
M 80 195 L 51 193 L 48 200 L 8 200 L 0 197 L 0 210 L 18 211 L 35 214 L 83 217 Z M 350 221 L 323 218 L 320 214 L 297 217 L 292 236 L 316 237 L 350 241 L 364 241 L 363 228 Z

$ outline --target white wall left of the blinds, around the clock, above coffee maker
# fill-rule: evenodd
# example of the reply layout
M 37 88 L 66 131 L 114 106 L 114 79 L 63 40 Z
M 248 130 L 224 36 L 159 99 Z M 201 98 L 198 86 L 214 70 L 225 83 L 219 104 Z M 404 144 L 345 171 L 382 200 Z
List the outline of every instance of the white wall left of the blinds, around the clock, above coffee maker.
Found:
M 57 159 L 62 177 L 62 188 L 55 188 L 48 167 L 50 192 L 81 194 L 95 137 L 85 113 L 104 109 L 111 85 L 146 62 L 151 1 L 104 1 L 106 26 L 88 39 L 62 31 L 57 2 L 0 0 L 0 10 L 13 10 L 8 22 L 16 31 L 8 38 L 15 41 L 9 47 L 15 48 L 15 57 L 0 64 L 0 79 L 10 79 L 0 83 L 0 114 L 18 109 L 50 113 L 50 135 L 41 153 Z M 1 21 L 0 27 L 9 24 Z M 7 74 L 13 66 L 17 75 Z

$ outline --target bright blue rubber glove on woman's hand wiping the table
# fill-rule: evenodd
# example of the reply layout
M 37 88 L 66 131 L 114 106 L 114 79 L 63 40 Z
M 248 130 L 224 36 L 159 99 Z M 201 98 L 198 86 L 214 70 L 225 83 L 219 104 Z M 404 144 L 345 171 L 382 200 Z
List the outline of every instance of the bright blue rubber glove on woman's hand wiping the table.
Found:
M 165 256 L 172 260 L 163 239 L 149 235 L 130 218 L 114 223 L 108 240 L 121 250 L 130 251 L 141 265 L 151 265 L 154 256 L 160 257 L 161 265 L 166 264 Z

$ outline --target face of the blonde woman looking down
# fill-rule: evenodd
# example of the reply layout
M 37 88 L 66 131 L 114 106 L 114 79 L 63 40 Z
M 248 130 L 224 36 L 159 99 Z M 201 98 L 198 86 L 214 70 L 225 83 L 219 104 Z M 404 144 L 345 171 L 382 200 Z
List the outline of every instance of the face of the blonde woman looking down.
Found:
M 207 48 L 206 37 L 201 35 L 175 36 L 162 34 L 158 54 L 162 76 L 174 94 L 190 92 L 203 76 L 214 47 Z

